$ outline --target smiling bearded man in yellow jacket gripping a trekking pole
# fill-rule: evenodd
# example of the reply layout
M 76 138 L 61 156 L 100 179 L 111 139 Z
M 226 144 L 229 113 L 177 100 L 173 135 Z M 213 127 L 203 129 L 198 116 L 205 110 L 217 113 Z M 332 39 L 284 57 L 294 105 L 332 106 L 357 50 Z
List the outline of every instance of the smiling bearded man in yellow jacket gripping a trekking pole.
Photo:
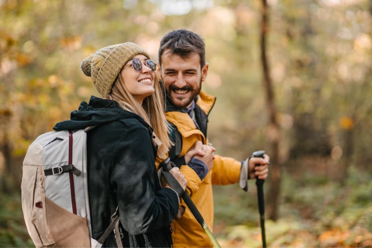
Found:
M 159 64 L 167 94 L 166 118 L 175 143 L 169 156 L 186 177 L 186 191 L 212 229 L 212 185 L 240 183 L 247 190 L 247 179 L 266 179 L 269 157 L 265 154 L 241 162 L 214 155 L 215 149 L 208 145 L 207 119 L 215 97 L 201 91 L 208 64 L 204 41 L 197 34 L 184 29 L 166 34 L 160 42 Z M 212 247 L 190 210 L 182 205 L 185 212 L 172 222 L 174 247 Z

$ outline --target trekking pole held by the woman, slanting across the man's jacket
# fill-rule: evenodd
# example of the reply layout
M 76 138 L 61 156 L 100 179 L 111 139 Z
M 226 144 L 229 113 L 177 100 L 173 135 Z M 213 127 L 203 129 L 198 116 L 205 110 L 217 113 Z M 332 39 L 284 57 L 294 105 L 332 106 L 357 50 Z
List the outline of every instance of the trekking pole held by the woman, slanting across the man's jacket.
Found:
M 177 182 L 177 180 L 173 177 L 173 175 L 169 172 L 174 166 L 172 166 L 170 158 L 166 158 L 163 160 L 159 167 L 163 167 L 163 176 L 167 183 L 177 191 L 179 195 L 182 196 L 182 199 L 184 199 L 187 207 L 190 209 L 192 215 L 195 217 L 197 222 L 200 224 L 200 226 L 203 228 L 205 234 L 208 236 L 209 240 L 212 242 L 213 247 L 215 248 L 221 248 L 220 244 L 218 244 L 218 241 L 216 237 L 214 237 L 213 233 L 205 223 L 203 216 L 201 216 L 199 210 L 195 206 L 194 202 L 191 200 L 190 196 L 184 190 L 181 185 Z

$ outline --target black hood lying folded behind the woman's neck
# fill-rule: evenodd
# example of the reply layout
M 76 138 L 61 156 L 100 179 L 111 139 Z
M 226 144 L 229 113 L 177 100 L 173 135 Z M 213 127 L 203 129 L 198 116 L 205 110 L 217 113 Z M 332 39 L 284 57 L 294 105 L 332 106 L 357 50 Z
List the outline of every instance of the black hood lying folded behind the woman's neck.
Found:
M 81 102 L 79 110 L 71 112 L 70 120 L 57 123 L 53 129 L 56 131 L 82 129 L 87 126 L 94 126 L 127 118 L 138 119 L 145 126 L 150 127 L 140 116 L 120 107 L 118 102 L 91 96 L 89 104 Z

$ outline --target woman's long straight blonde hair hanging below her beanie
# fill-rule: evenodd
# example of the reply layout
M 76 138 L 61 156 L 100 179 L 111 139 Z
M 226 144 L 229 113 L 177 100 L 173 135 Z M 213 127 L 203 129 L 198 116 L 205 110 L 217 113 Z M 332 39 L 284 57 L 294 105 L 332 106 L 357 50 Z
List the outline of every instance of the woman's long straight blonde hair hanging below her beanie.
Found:
M 155 136 L 161 141 L 161 144 L 158 147 L 157 156 L 161 159 L 165 159 L 167 158 L 167 153 L 171 145 L 169 138 L 170 127 L 164 115 L 163 93 L 156 73 L 154 89 L 155 92 L 153 94 L 143 99 L 141 106 L 127 90 L 125 83 L 119 74 L 111 93 L 107 98 L 117 101 L 124 110 L 139 115 L 154 129 Z

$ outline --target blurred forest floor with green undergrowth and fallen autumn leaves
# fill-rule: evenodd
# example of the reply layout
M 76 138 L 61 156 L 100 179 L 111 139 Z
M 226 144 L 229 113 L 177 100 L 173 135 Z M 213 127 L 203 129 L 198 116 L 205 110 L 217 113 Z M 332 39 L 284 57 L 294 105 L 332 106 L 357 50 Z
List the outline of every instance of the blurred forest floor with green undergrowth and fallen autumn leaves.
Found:
M 343 184 L 310 170 L 284 171 L 278 219 L 265 220 L 267 247 L 372 247 L 371 179 L 353 167 Z M 214 186 L 214 234 L 224 248 L 262 246 L 254 180 L 248 185 L 248 192 L 238 185 Z M 1 196 L 0 247 L 33 247 L 20 193 Z

